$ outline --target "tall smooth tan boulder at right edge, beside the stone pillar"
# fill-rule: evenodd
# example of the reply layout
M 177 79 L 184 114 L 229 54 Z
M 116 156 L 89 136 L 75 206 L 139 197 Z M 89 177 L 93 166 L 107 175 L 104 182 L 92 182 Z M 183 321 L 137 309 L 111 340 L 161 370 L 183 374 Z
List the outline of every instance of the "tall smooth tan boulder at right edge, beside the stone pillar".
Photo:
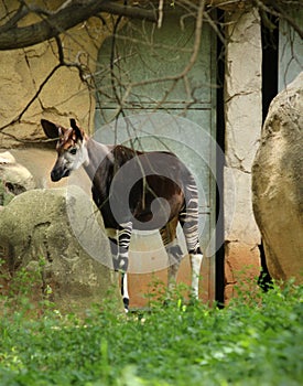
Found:
M 303 282 L 303 72 L 270 105 L 252 193 L 270 275 Z

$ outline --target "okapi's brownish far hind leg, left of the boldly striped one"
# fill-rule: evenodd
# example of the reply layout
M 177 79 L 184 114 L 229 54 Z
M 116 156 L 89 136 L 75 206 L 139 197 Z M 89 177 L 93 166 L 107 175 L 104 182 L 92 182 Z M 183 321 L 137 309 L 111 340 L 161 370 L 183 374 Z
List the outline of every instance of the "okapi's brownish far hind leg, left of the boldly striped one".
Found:
M 176 276 L 183 257 L 176 238 L 177 217 L 173 218 L 160 229 L 160 235 L 169 256 L 167 289 L 171 293 L 175 289 Z

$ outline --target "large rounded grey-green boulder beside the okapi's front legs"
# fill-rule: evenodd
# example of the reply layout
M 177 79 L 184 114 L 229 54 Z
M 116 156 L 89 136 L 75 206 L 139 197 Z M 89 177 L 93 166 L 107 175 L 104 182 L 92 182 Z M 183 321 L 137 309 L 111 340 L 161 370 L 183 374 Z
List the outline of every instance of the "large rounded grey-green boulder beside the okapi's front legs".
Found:
M 107 297 L 121 304 L 101 217 L 79 187 L 33 190 L 0 214 L 0 249 L 12 275 L 39 272 L 40 291 L 62 312 L 83 312 Z

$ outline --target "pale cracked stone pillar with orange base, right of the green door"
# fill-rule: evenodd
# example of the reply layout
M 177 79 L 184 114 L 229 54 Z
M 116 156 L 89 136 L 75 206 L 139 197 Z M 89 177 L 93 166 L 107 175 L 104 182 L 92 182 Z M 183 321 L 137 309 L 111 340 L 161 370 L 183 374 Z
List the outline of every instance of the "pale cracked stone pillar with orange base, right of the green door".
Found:
M 225 119 L 225 298 L 259 276 L 260 235 L 252 213 L 251 167 L 262 125 L 261 30 L 257 10 L 227 13 Z

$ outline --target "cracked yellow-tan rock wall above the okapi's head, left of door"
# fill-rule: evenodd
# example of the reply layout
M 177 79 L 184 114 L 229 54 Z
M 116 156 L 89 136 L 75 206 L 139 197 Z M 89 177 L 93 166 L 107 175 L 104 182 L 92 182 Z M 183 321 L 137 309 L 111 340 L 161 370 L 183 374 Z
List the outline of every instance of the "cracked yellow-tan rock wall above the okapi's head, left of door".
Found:
M 14 8 L 18 8 L 17 1 L 7 1 L 6 6 L 1 2 L 0 13 Z M 99 19 L 69 30 L 62 36 L 64 60 L 69 66 L 59 66 L 53 74 L 58 65 L 54 40 L 24 50 L 0 52 L 0 149 L 44 140 L 42 116 L 62 120 L 62 125 L 74 117 L 86 131 L 94 130 L 95 98 L 89 85 L 98 49 L 108 33 L 108 26 Z M 85 82 L 80 79 L 79 68 Z

